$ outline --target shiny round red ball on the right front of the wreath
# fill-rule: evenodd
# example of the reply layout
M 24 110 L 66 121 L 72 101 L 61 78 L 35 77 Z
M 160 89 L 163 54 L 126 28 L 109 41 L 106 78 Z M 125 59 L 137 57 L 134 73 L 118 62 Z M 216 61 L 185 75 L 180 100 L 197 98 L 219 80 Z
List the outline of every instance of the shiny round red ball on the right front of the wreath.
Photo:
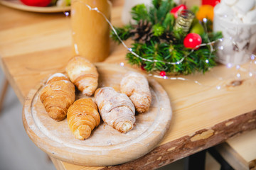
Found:
M 202 38 L 197 33 L 188 33 L 183 40 L 183 45 L 187 48 L 195 48 L 198 45 L 201 45 Z

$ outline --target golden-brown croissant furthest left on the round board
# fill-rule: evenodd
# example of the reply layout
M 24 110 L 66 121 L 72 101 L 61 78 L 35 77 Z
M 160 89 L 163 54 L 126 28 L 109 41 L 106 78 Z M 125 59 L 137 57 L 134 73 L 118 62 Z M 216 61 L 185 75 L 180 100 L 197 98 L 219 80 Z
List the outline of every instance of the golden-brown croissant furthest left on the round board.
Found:
M 64 74 L 53 74 L 43 87 L 40 99 L 50 118 L 63 120 L 75 101 L 75 86 Z

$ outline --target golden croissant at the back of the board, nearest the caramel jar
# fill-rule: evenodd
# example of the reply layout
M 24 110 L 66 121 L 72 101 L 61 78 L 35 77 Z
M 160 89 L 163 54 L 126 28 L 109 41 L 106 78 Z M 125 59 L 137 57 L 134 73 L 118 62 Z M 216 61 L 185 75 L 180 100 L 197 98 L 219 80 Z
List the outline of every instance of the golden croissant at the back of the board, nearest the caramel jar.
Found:
M 65 68 L 70 80 L 82 94 L 92 96 L 97 89 L 99 74 L 94 64 L 83 57 L 73 57 Z

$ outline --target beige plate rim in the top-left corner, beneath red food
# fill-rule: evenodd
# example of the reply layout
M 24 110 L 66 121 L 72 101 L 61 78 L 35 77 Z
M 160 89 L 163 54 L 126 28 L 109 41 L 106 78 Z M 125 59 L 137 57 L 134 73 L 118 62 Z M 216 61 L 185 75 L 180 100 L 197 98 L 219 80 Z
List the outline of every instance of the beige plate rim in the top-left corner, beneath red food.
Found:
M 59 13 L 70 11 L 70 6 L 46 6 L 46 7 L 38 7 L 38 6 L 26 6 L 18 0 L 0 0 L 0 4 L 4 6 L 8 6 L 11 8 L 16 8 L 22 11 L 31 11 L 38 13 Z

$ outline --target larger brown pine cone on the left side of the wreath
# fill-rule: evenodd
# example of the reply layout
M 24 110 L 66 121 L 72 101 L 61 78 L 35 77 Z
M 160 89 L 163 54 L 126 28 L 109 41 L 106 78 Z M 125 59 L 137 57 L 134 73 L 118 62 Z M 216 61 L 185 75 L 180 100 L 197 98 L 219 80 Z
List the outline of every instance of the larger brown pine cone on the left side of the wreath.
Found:
M 130 30 L 134 34 L 132 39 L 139 42 L 148 42 L 153 36 L 152 24 L 146 20 L 140 20 L 138 25 L 134 25 L 134 29 Z

